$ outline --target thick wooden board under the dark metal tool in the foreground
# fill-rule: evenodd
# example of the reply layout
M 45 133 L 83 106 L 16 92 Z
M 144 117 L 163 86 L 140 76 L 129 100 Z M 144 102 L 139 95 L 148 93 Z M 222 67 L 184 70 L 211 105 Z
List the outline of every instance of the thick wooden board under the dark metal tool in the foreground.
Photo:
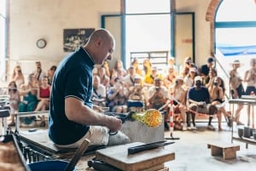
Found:
M 108 162 L 108 164 L 125 171 L 137 171 L 158 166 L 175 158 L 174 152 L 167 151 L 163 147 L 128 155 L 128 147 L 143 144 L 135 142 L 98 150 L 96 151 L 96 159 Z

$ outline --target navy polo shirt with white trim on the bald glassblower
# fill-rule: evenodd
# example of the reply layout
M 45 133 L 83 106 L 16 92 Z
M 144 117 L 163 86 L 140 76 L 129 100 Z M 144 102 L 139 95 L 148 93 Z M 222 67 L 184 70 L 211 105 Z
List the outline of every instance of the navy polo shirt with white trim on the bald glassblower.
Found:
M 74 97 L 92 107 L 93 67 L 90 55 L 80 47 L 61 60 L 55 71 L 49 103 L 49 138 L 57 145 L 73 144 L 89 130 L 89 125 L 67 119 L 65 99 Z

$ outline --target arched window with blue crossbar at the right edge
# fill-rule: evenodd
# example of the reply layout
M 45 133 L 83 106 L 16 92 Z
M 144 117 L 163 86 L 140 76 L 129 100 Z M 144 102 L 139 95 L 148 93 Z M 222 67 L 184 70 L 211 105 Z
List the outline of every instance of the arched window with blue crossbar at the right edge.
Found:
M 215 16 L 215 54 L 249 65 L 256 54 L 256 2 L 223 0 Z M 245 67 L 246 68 L 246 67 Z

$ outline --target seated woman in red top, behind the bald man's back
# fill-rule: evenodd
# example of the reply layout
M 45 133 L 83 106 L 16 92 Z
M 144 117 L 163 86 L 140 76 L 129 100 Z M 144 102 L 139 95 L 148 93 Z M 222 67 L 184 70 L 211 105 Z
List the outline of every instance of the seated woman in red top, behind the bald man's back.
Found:
M 46 111 L 49 110 L 49 94 L 50 94 L 50 85 L 49 79 L 47 76 L 42 77 L 41 85 L 38 87 L 38 105 L 35 111 Z M 42 116 L 41 127 L 45 126 L 44 116 Z

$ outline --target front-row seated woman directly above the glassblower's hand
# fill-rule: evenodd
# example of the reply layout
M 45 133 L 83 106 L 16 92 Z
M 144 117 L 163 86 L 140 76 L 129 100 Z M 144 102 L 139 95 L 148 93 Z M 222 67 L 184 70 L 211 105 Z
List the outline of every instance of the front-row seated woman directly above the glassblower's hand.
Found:
M 113 87 L 108 90 L 108 107 L 117 113 L 127 112 L 128 90 L 119 78 L 115 78 Z

